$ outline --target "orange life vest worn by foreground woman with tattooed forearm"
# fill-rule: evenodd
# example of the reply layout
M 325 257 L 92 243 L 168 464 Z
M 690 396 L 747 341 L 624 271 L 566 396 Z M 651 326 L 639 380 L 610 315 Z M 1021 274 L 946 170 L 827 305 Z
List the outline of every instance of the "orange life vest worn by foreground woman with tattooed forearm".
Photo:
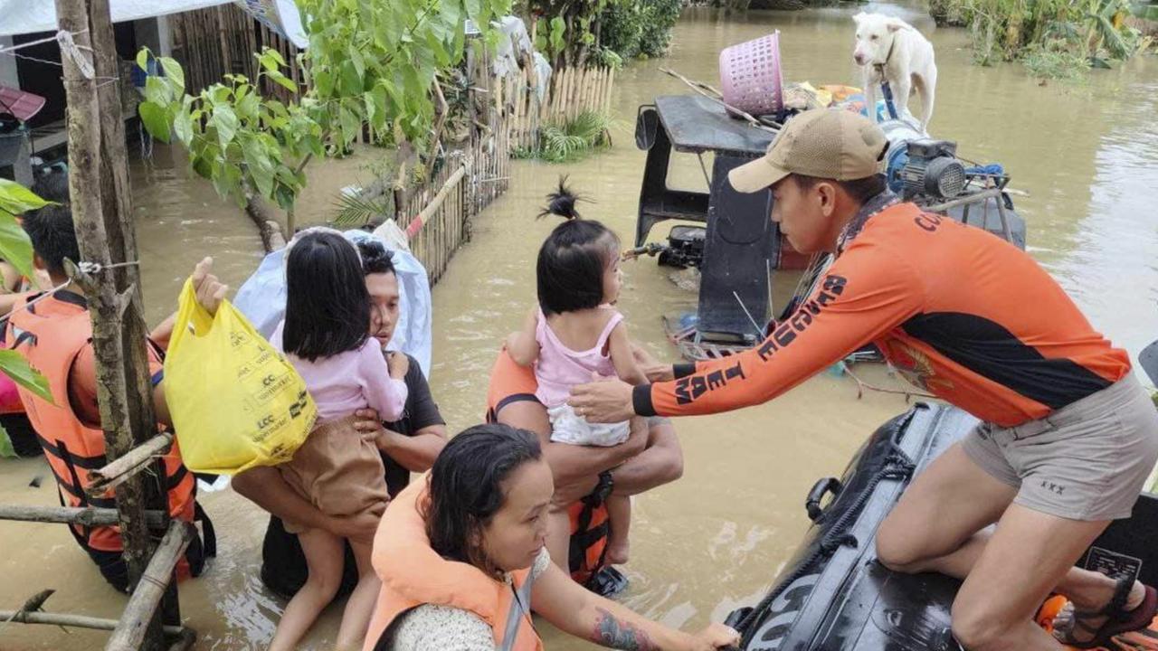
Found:
M 387 649 L 383 634 L 400 615 L 435 604 L 477 615 L 494 631 L 494 648 L 542 651 L 530 620 L 530 570 L 511 572 L 512 584 L 494 580 L 468 563 L 447 561 L 426 537 L 419 504 L 426 499 L 426 476 L 390 502 L 374 536 L 374 571 L 382 579 L 364 651 Z M 512 637 L 513 635 L 513 637 Z

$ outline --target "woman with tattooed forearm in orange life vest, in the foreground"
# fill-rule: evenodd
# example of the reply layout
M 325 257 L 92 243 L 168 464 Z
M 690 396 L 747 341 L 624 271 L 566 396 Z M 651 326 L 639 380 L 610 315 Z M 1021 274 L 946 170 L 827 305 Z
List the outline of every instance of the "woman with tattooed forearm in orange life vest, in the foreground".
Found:
M 532 610 L 611 649 L 709 651 L 739 642 L 723 624 L 687 634 L 650 621 L 551 563 L 551 475 L 532 432 L 488 424 L 450 439 L 379 525 L 373 563 L 382 588 L 364 651 L 540 651 Z

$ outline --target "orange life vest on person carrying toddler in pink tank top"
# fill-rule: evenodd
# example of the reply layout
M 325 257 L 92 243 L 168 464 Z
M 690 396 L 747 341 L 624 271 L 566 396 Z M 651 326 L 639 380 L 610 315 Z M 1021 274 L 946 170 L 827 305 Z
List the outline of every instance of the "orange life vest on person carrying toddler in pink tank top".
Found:
M 513 402 L 538 402 L 535 397 L 535 372 L 519 366 L 504 350 L 491 368 L 486 392 L 486 422 L 498 423 L 498 412 Z M 604 565 L 608 534 L 607 505 L 592 497 L 576 502 L 567 509 L 571 518 L 571 546 L 567 569 L 580 585 L 587 583 Z

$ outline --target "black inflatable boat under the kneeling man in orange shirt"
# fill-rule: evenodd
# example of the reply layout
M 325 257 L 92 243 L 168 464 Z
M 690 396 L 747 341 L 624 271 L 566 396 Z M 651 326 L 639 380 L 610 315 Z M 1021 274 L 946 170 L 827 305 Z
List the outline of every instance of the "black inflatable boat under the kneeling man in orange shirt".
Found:
M 960 583 L 900 575 L 877 562 L 877 527 L 915 474 L 976 423 L 945 405 L 917 404 L 882 425 L 841 478 L 819 481 L 806 509 L 813 526 L 761 602 L 727 623 L 745 651 L 955 651 L 950 607 Z M 830 496 L 830 497 L 829 497 Z M 827 505 L 826 505 L 827 500 Z M 1158 497 L 1143 493 L 1079 561 L 1107 575 L 1158 581 Z

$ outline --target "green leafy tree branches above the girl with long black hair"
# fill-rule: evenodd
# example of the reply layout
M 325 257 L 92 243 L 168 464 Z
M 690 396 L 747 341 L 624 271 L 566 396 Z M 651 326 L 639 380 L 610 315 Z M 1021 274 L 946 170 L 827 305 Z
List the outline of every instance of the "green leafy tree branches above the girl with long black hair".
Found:
M 431 89 L 439 71 L 462 60 L 466 20 L 492 37 L 492 17 L 510 5 L 299 0 L 309 46 L 299 56 L 306 89 L 296 101 L 281 103 L 259 93 L 262 76 L 299 93 L 274 50 L 255 54 L 257 80 L 226 75 L 196 97 L 184 94 L 179 64 L 160 57 L 164 76 L 148 76 L 141 122 L 162 141 L 176 136 L 192 168 L 212 180 L 220 195 L 243 204 L 252 191 L 276 202 L 292 233 L 293 206 L 306 184 L 303 168 L 314 156 L 347 151 L 366 126 L 382 145 L 430 146 L 435 115 Z M 151 56 L 138 56 L 142 70 Z

